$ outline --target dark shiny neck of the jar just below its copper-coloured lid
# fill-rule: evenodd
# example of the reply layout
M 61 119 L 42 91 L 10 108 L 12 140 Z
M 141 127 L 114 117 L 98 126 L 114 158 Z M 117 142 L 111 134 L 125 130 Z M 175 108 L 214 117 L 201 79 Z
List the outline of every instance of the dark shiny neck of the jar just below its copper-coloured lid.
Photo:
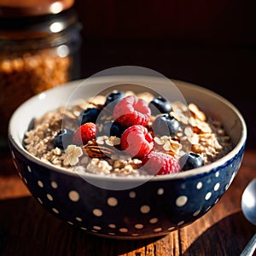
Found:
M 73 8 L 56 15 L 0 17 L 0 49 L 19 51 L 66 44 L 81 29 Z

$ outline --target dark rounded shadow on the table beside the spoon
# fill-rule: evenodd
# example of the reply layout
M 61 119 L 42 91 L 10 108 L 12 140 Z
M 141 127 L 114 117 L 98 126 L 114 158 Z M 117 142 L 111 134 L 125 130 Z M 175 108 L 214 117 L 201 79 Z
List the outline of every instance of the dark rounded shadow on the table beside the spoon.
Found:
M 211 255 L 212 252 L 215 252 L 214 256 L 238 256 L 255 232 L 255 227 L 247 221 L 242 212 L 236 212 L 206 230 L 183 256 Z

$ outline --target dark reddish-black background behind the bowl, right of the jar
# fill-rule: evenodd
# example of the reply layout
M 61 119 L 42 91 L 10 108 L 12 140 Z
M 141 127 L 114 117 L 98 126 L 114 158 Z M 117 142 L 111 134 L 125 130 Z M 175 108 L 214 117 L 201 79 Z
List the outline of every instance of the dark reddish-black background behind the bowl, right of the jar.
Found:
M 241 111 L 255 148 L 255 1 L 77 0 L 73 8 L 83 25 L 81 78 L 131 65 L 207 87 Z

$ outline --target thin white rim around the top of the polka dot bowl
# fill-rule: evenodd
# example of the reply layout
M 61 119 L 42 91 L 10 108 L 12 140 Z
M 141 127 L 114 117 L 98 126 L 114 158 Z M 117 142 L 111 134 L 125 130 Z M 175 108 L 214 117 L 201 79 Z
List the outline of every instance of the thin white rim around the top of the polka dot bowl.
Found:
M 227 161 L 232 159 L 236 154 L 239 153 L 242 147 L 245 146 L 246 140 L 247 140 L 247 125 L 245 123 L 245 120 L 243 119 L 240 111 L 227 99 L 225 99 L 223 96 L 218 95 L 216 92 L 209 90 L 205 87 L 202 87 L 201 85 L 197 84 L 192 84 L 189 82 L 185 82 L 183 80 L 178 80 L 178 79 L 170 79 L 174 84 L 179 83 L 182 84 L 182 86 L 191 86 L 193 85 L 194 88 L 198 90 L 203 90 L 204 93 L 210 94 L 211 96 L 218 98 L 218 101 L 224 102 L 225 105 L 229 106 L 234 113 L 236 113 L 236 116 L 238 117 L 239 121 L 241 122 L 241 137 L 239 142 L 235 145 L 235 147 L 228 153 L 225 154 L 222 158 L 212 162 L 211 164 L 208 164 L 206 166 L 201 166 L 199 168 L 195 168 L 189 171 L 185 172 L 178 172 L 178 173 L 171 173 L 171 174 L 165 174 L 165 175 L 159 175 L 159 176 L 152 176 L 148 179 L 148 176 L 137 176 L 137 177 L 110 177 L 106 175 L 96 175 L 92 174 L 89 172 L 84 172 L 83 174 L 77 173 L 74 171 L 67 170 L 66 168 L 63 167 L 58 167 L 54 166 L 51 164 L 48 164 L 42 160 L 39 160 L 36 156 L 33 156 L 30 154 L 28 151 L 26 151 L 25 148 L 20 147 L 20 144 L 15 141 L 15 137 L 12 135 L 13 131 L 13 126 L 14 126 L 14 119 L 15 119 L 15 114 L 24 106 L 25 104 L 29 104 L 35 98 L 40 97 L 41 94 L 44 93 L 44 95 L 47 95 L 51 93 L 53 90 L 63 90 L 63 86 L 69 87 L 69 86 L 74 86 L 75 84 L 82 83 L 84 80 L 86 82 L 91 83 L 91 82 L 96 82 L 96 83 L 101 83 L 101 82 L 106 82 L 110 80 L 111 82 L 119 82 L 119 79 L 128 79 L 127 82 L 132 83 L 131 80 L 134 79 L 136 82 L 139 81 L 140 79 L 144 81 L 145 79 L 155 79 L 156 81 L 160 81 L 161 78 L 159 77 L 150 77 L 150 76 L 137 76 L 137 75 L 125 75 L 125 76 L 102 76 L 102 77 L 96 77 L 96 78 L 88 78 L 88 79 L 78 79 L 78 80 L 73 80 L 70 82 L 67 82 L 66 84 L 62 84 L 61 86 L 51 88 L 49 90 L 44 90 L 43 92 L 39 93 L 38 95 L 32 96 L 26 102 L 23 102 L 20 107 L 16 108 L 15 112 L 12 114 L 10 120 L 9 120 L 9 142 L 13 144 L 13 146 L 20 152 L 20 154 L 24 155 L 26 159 L 31 160 L 32 162 L 38 164 L 39 166 L 44 166 L 52 171 L 55 172 L 61 172 L 67 176 L 77 176 L 77 177 L 84 177 L 84 178 L 89 178 L 89 179 L 96 179 L 96 180 L 102 180 L 102 181 L 111 181 L 111 182 L 138 182 L 141 183 L 142 181 L 149 181 L 149 182 L 156 182 L 156 181 L 166 181 L 166 180 L 173 180 L 173 179 L 179 179 L 179 178 L 185 178 L 185 177 L 193 177 L 196 175 L 200 174 L 205 174 L 207 172 L 211 172 L 213 169 L 218 169 L 218 166 L 223 166 Z

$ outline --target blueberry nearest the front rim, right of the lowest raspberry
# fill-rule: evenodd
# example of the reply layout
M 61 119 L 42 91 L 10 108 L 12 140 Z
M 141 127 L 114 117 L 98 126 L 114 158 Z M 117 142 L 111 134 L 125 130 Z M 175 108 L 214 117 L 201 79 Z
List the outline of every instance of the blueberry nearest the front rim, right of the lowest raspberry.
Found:
M 204 160 L 200 154 L 189 152 L 183 154 L 183 156 L 179 159 L 179 164 L 182 167 L 182 171 L 188 171 L 197 167 L 204 166 Z

